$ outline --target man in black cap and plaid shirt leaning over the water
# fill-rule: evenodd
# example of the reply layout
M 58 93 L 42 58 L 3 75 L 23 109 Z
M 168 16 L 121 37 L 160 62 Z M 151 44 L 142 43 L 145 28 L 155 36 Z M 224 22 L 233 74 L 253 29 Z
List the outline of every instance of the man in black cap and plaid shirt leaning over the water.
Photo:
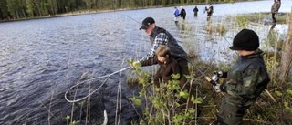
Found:
M 150 36 L 150 42 L 152 45 L 151 52 L 145 57 L 142 57 L 139 61 L 134 62 L 133 66 L 141 61 L 153 60 L 156 57 L 155 51 L 157 47 L 159 47 L 159 45 L 166 45 L 170 48 L 172 57 L 180 66 L 181 87 L 183 87 L 184 84 L 187 84 L 187 79 L 184 75 L 189 75 L 190 73 L 188 68 L 187 53 L 183 50 L 183 47 L 178 44 L 177 40 L 168 31 L 162 27 L 156 26 L 152 17 L 146 17 L 142 21 L 140 30 L 141 29 L 145 30 L 146 34 Z

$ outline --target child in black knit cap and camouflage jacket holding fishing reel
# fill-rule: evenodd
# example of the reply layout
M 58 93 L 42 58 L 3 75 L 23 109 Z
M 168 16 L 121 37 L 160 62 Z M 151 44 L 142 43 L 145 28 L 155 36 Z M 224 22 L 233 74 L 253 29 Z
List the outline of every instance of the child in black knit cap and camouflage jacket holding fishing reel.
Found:
M 264 53 L 258 47 L 259 38 L 250 29 L 241 30 L 229 47 L 239 58 L 228 72 L 217 73 L 219 78 L 225 79 L 222 84 L 213 86 L 216 92 L 224 93 L 216 120 L 220 125 L 242 124 L 245 109 L 255 102 L 270 81 Z

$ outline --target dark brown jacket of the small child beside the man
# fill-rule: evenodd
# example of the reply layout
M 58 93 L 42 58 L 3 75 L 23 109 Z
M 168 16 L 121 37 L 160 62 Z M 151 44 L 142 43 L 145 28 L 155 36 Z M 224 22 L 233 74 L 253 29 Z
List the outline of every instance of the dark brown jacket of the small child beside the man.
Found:
M 151 59 L 141 61 L 140 63 L 141 66 L 151 66 L 154 64 L 159 64 L 160 67 L 158 68 L 154 76 L 154 84 L 158 87 L 160 86 L 160 82 L 163 81 L 164 83 L 167 83 L 169 80 L 172 80 L 173 74 L 180 73 L 180 67 L 177 61 L 172 57 L 169 57 L 166 60 L 165 64 L 159 62 L 156 56 Z

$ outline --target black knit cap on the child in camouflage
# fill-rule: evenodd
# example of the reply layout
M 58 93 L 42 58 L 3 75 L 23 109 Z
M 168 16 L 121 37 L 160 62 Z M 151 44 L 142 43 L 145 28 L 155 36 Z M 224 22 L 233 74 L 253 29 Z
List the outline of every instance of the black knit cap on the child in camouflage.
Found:
M 234 38 L 232 50 L 253 51 L 259 47 L 259 39 L 255 31 L 243 29 Z

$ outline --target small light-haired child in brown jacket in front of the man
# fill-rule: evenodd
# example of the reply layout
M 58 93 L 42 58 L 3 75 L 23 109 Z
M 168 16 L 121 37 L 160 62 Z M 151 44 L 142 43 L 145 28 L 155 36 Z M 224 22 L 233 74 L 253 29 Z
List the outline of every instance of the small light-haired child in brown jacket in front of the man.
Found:
M 151 66 L 159 64 L 160 67 L 154 76 L 154 84 L 160 87 L 160 83 L 167 83 L 172 80 L 172 75 L 180 74 L 180 66 L 172 57 L 170 48 L 165 45 L 160 45 L 156 50 L 156 55 L 152 60 L 141 61 L 141 66 Z

